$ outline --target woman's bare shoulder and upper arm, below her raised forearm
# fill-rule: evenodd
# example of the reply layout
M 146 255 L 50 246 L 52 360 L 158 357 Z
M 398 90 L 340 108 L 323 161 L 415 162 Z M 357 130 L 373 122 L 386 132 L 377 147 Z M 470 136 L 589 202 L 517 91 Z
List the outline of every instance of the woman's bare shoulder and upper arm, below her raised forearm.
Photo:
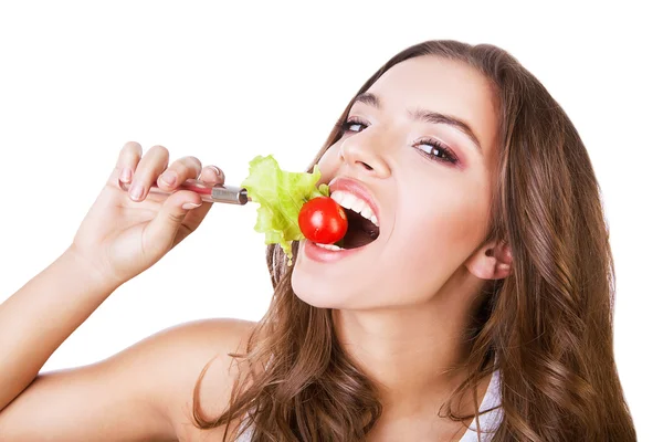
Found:
M 12 441 L 203 440 L 193 425 L 193 390 L 201 372 L 203 417 L 229 404 L 239 368 L 228 354 L 244 352 L 255 323 L 204 319 L 167 328 L 99 362 L 40 373 L 0 413 Z M 235 425 L 235 423 L 233 423 Z M 230 429 L 231 431 L 233 428 Z M 212 436 L 213 438 L 213 436 Z

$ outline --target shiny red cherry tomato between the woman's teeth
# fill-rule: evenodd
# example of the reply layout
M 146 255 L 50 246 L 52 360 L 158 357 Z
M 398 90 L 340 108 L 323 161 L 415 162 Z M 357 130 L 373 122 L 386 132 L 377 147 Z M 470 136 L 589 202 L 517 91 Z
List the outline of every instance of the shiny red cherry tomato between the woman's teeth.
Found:
M 299 229 L 306 239 L 334 244 L 348 231 L 345 209 L 329 197 L 308 200 L 299 210 Z

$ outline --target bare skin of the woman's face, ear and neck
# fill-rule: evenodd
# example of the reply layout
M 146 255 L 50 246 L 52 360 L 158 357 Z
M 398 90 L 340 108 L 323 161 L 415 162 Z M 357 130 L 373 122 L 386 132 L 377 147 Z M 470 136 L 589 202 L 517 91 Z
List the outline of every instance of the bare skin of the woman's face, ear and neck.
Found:
M 421 440 L 433 440 L 459 427 L 436 412 L 466 376 L 454 368 L 467 356 L 461 336 L 476 294 L 486 280 L 511 272 L 508 246 L 483 242 L 497 160 L 493 93 L 473 69 L 435 56 L 396 65 L 368 92 L 380 106 L 355 103 L 348 119 L 361 125 L 351 126 L 319 167 L 324 182 L 344 176 L 369 189 L 380 236 L 335 263 L 299 253 L 293 288 L 306 303 L 334 308 L 345 350 L 379 382 L 385 412 L 373 438 L 420 431 Z M 413 122 L 408 109 L 414 108 L 466 122 L 482 154 L 451 126 Z M 430 148 L 418 146 L 422 137 L 448 145 L 460 162 L 421 156 Z

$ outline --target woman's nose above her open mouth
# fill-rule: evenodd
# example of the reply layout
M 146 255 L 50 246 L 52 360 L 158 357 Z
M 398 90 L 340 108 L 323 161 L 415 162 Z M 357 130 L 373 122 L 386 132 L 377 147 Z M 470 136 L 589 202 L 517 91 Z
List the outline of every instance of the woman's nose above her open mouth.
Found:
M 391 170 L 380 151 L 380 143 L 368 134 L 356 134 L 340 145 L 338 156 L 350 169 L 359 168 L 359 172 L 369 173 L 376 178 L 387 178 Z

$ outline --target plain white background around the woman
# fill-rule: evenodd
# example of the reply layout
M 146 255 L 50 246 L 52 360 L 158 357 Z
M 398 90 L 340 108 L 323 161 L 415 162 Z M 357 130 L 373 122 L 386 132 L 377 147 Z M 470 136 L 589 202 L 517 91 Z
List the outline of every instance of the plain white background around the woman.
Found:
M 315 4 L 0 3 L 0 302 L 69 245 L 125 141 L 194 155 L 223 168 L 229 183 L 256 155 L 303 170 L 391 55 L 428 39 L 492 43 L 546 85 L 589 149 L 617 264 L 619 372 L 640 440 L 656 440 L 663 35 L 653 10 Z M 271 285 L 255 208 L 218 206 L 108 298 L 45 369 L 99 360 L 182 322 L 257 320 Z

